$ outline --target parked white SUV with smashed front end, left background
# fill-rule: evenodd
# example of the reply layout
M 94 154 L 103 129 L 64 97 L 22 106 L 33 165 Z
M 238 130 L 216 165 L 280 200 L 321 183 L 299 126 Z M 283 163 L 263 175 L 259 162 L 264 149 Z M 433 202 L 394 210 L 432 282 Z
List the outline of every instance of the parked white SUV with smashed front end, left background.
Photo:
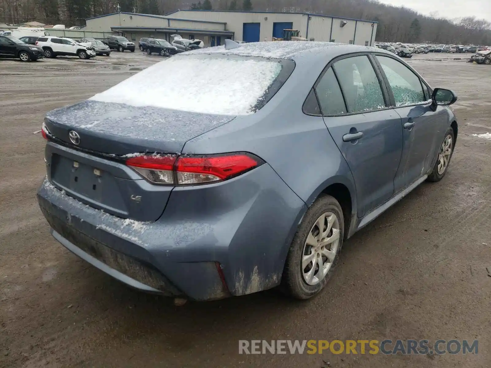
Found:
M 38 37 L 36 45 L 43 48 L 46 57 L 70 55 L 78 56 L 81 59 L 89 59 L 95 56 L 93 47 L 81 45 L 77 41 L 66 37 Z

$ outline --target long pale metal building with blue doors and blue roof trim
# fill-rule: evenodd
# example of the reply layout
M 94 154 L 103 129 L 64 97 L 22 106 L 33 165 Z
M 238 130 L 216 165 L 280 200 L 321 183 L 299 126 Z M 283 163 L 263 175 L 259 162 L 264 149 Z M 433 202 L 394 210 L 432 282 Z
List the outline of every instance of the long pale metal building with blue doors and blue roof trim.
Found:
M 300 36 L 309 40 L 373 46 L 378 24 L 310 13 L 215 10 L 177 10 L 165 16 L 120 12 L 85 22 L 83 30 L 119 32 L 133 41 L 141 37 L 170 41 L 170 35 L 178 33 L 183 38 L 199 38 L 205 46 L 222 45 L 226 38 L 271 41 L 283 37 L 283 29 L 298 29 Z

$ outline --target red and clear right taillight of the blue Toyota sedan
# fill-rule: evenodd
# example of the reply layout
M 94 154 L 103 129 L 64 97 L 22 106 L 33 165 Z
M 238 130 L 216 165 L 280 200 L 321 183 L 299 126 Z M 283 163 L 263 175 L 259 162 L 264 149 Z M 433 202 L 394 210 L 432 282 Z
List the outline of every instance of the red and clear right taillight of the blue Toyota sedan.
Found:
M 126 164 L 153 184 L 196 185 L 227 180 L 264 162 L 248 153 L 210 156 L 137 156 Z

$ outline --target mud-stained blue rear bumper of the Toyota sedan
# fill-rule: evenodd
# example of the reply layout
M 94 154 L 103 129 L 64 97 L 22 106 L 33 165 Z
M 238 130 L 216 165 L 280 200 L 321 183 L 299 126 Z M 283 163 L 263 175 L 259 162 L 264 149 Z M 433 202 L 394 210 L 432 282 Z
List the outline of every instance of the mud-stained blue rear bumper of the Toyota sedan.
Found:
M 47 180 L 38 201 L 56 240 L 85 261 L 133 288 L 194 300 L 277 286 L 306 210 L 267 164 L 227 182 L 175 188 L 154 223 L 95 210 Z

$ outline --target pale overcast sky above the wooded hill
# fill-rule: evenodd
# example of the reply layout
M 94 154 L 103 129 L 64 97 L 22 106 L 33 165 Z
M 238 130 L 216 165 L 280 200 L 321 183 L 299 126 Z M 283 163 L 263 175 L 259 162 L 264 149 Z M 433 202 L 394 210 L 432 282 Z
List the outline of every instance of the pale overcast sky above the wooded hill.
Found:
M 435 15 L 442 18 L 462 18 L 475 16 L 491 22 L 490 0 L 379 0 L 394 6 L 404 5 L 424 15 Z M 432 13 L 432 14 L 431 14 Z

